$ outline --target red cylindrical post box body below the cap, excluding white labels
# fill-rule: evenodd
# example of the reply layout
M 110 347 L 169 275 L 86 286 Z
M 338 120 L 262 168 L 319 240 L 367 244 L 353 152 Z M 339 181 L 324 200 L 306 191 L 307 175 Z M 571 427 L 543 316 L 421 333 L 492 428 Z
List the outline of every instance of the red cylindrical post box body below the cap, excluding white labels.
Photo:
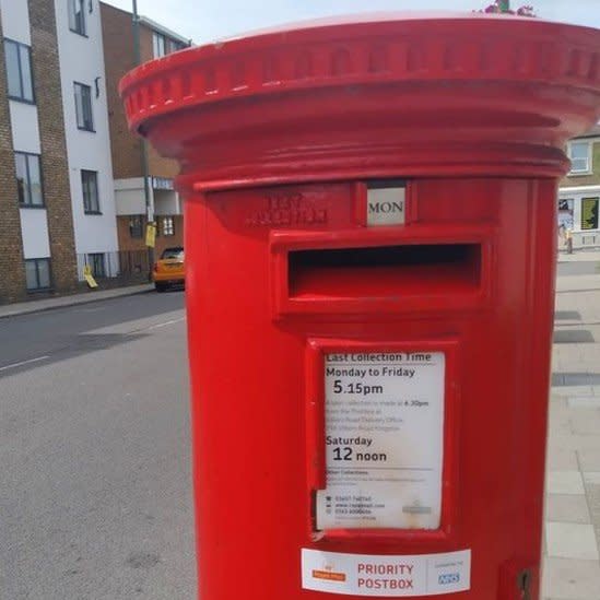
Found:
M 198 266 L 188 319 L 202 598 L 240 589 L 319 598 L 301 591 L 301 549 L 470 550 L 468 598 L 518 598 L 523 569 L 537 586 L 555 186 L 412 180 L 414 221 L 376 231 L 355 220 L 366 191 L 308 184 L 212 192 L 187 207 L 187 259 Z M 352 264 L 366 248 L 422 245 L 438 246 L 426 262 Z M 462 246 L 469 252 L 455 256 Z M 322 266 L 336 248 L 353 251 Z M 290 258 L 308 250 L 317 260 Z M 440 527 L 325 531 L 315 541 L 321 354 L 397 350 L 446 353 Z

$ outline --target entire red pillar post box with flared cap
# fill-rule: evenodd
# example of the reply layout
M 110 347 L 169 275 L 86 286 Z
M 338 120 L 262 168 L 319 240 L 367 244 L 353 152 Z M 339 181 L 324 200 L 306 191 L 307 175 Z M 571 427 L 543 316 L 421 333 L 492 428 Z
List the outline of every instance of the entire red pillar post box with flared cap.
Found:
M 323 21 L 121 92 L 187 199 L 200 597 L 537 599 L 556 185 L 600 32 Z

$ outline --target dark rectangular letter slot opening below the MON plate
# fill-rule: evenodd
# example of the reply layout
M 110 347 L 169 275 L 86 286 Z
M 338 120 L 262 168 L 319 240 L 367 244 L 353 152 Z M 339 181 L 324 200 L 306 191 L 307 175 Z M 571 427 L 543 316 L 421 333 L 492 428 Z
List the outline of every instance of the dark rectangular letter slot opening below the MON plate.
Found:
M 480 244 L 424 244 L 289 252 L 291 297 L 387 297 L 473 291 Z

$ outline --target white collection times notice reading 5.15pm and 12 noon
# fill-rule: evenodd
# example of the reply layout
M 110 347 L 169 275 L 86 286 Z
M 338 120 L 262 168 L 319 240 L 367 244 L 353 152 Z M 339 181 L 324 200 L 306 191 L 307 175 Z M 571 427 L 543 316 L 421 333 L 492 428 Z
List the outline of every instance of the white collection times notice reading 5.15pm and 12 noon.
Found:
M 443 352 L 326 354 L 327 489 L 317 529 L 437 529 Z

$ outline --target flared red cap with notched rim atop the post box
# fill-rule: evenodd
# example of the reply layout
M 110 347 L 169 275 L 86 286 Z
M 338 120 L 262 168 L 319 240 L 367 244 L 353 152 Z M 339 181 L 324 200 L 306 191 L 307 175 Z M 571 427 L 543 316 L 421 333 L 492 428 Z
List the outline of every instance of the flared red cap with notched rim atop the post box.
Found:
M 553 163 L 538 174 L 557 176 L 564 142 L 600 117 L 600 31 L 481 13 L 325 19 L 168 55 L 127 74 L 120 93 L 131 130 L 207 177 L 239 163 L 228 136 L 256 141 L 264 164 L 291 148 L 282 128 L 323 146 L 327 129 L 361 143 L 369 127 L 413 149 L 536 145 Z M 205 144 L 200 164 L 190 149 Z

